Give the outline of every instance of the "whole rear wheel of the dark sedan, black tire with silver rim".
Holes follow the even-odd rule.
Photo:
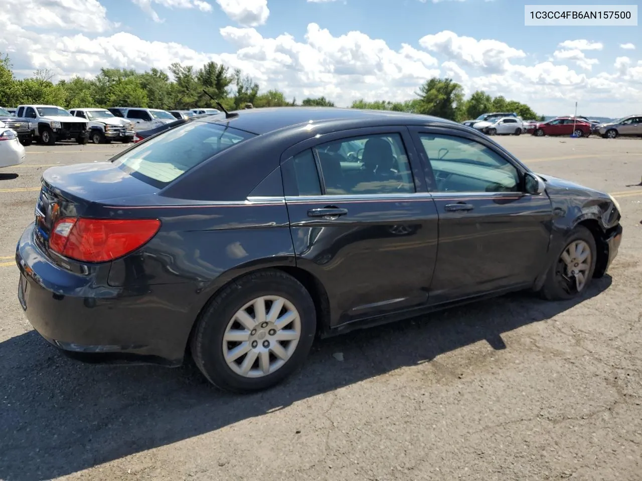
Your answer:
[[[273,300],[264,301],[265,298]],[[294,319],[287,325],[267,322],[269,309],[273,302],[279,300],[284,302],[280,311],[284,314],[279,314],[277,320],[290,319],[286,315]],[[262,316],[254,312],[254,305],[263,305],[266,312],[266,321],[256,326],[253,325],[254,318],[260,319]],[[245,319],[245,324],[239,323],[238,319]],[[288,332],[285,333],[284,328],[288,326]],[[212,298],[191,336],[191,354],[198,369],[219,389],[232,392],[261,391],[279,384],[303,364],[316,332],[317,312],[307,289],[292,276],[268,269],[231,282]],[[298,337],[290,341],[278,341],[279,333]],[[224,341],[225,337],[228,341]],[[280,346],[278,351],[277,344]],[[243,353],[234,360],[230,358],[228,362],[225,359],[226,352],[232,356],[235,348]],[[250,371],[243,375],[243,367],[250,361],[251,365],[247,366]],[[252,369],[254,366],[256,368]],[[265,366],[268,366],[266,374]],[[274,370],[270,373],[273,366]]]

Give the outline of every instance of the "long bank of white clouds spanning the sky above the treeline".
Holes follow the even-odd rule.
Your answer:
[[[40,5],[62,4],[62,0],[48,2],[41,0]],[[191,3],[193,8],[205,8]],[[173,1],[175,8],[180,4]],[[235,15],[240,15],[237,19],[248,22],[247,12],[260,10],[249,5],[244,14],[239,13],[242,8],[234,10]],[[59,18],[64,15],[59,9],[53,12]],[[38,22],[24,24],[15,8],[0,9],[0,51],[10,54],[19,76],[48,68],[58,78],[93,76],[101,67],[144,71],[151,67],[167,69],[172,62],[200,68],[214,61],[241,69],[259,82],[262,90],[279,89],[286,97],[297,97],[299,101],[307,96],[325,96],[339,106],[349,106],[361,97],[412,99],[419,86],[433,76],[453,78],[467,94],[482,89],[492,96],[525,102],[546,115],[568,114],[578,101],[585,106],[586,115],[615,117],[624,115],[629,105],[642,103],[642,63],[622,56],[592,72],[599,64],[584,56],[590,42],[562,42],[557,55],[551,56],[554,62],[534,63],[532,56],[504,42],[460,37],[452,31],[426,35],[419,42],[417,38],[406,38],[406,43],[393,49],[385,40],[359,31],[340,35],[310,23],[305,35],[296,38],[286,33],[264,37],[255,28],[226,26],[220,34],[229,42],[229,48],[213,52],[205,44],[197,50],[178,42],[150,42],[123,31],[102,33],[100,28],[109,28],[109,24],[105,23],[104,12],[97,12],[92,12],[92,28],[96,32],[76,33],[61,30],[56,21],[44,27],[55,31],[35,29],[32,27]],[[73,24],[73,18],[65,18],[69,21],[65,28],[80,28],[81,24]],[[104,19],[103,24],[97,22],[100,19]],[[254,21],[257,19],[261,15],[255,15]],[[84,26],[89,24],[83,21]],[[575,66],[581,67],[582,63],[582,70]]]

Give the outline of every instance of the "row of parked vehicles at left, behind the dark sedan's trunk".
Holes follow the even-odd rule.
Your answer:
[[[23,146],[33,141],[53,145],[60,140],[76,140],[86,144],[103,144],[117,140],[132,142],[136,131],[146,131],[169,124],[177,119],[197,115],[213,115],[216,108],[191,110],[160,110],[158,108],[110,107],[73,108],[65,110],[57,105],[19,105],[0,107],[0,121],[5,128],[15,131]]]

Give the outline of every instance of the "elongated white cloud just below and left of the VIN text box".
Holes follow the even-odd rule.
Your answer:
[[[498,40],[476,40],[460,37],[453,31],[444,30],[435,35],[426,35],[419,44],[433,52],[446,56],[468,67],[476,67],[489,74],[505,72],[512,58],[524,58],[526,54]]]

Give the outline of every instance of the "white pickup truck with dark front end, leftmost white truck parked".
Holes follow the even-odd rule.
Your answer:
[[[19,105],[16,117],[27,119],[33,139],[49,146],[66,139],[87,144],[89,139],[87,121],[57,105]]]

